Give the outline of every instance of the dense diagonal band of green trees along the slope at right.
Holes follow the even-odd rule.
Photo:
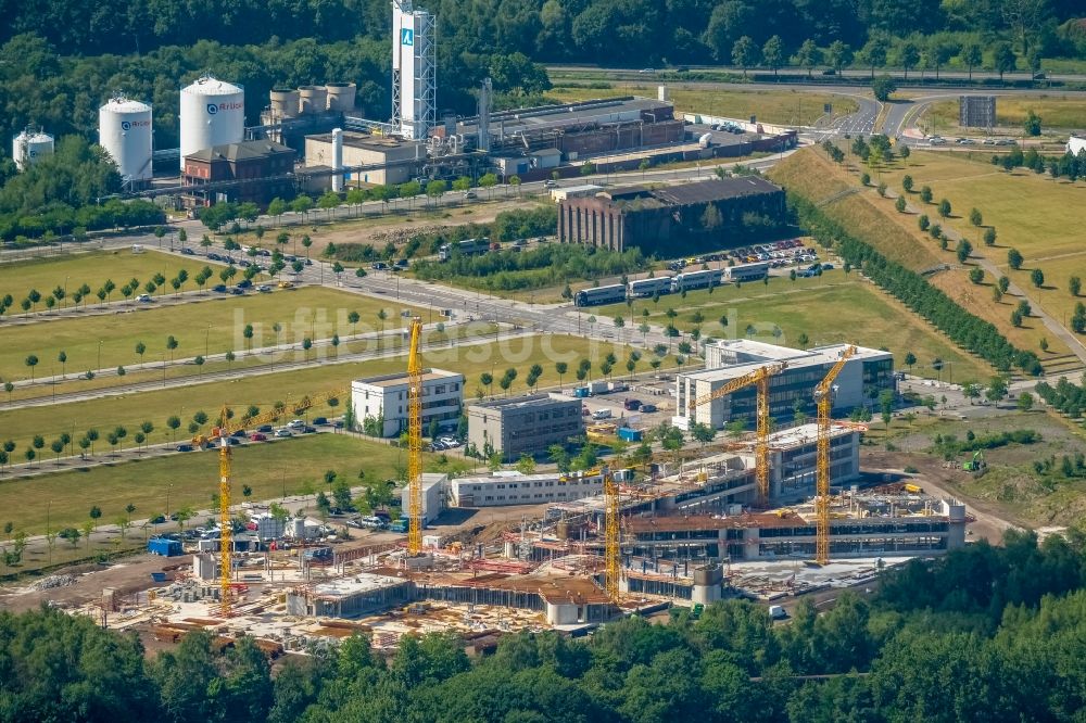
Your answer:
[[[1000,371],[1018,367],[1030,375],[1040,373],[1037,355],[1015,348],[990,321],[967,312],[920,274],[889,261],[854,237],[807,199],[791,194],[788,202],[800,225],[820,244],[833,248],[854,268],[862,269],[868,278],[926,319],[958,346],[976,354]]]

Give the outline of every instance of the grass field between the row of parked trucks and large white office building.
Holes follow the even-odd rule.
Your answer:
[[[956,379],[987,379],[992,369],[983,362],[963,354],[942,334],[908,312],[901,304],[877,288],[862,281],[856,274],[828,271],[820,278],[770,279],[768,286],[747,283],[740,289],[727,286],[715,290],[695,291],[686,299],[662,296],[659,304],[652,300],[634,302],[633,333],[648,309],[653,324],[666,325],[667,312],[673,308],[674,325],[689,332],[700,326],[703,337],[745,338],[786,346],[799,346],[799,334],[807,334],[809,345],[854,342],[880,348],[886,346],[895,355],[898,368],[905,367],[905,355],[915,354],[913,372],[935,377],[929,365],[935,357],[949,362]],[[695,321],[695,314],[703,321]],[[598,316],[622,314],[627,330],[631,329],[631,309],[624,304],[601,307]],[[720,318],[728,317],[728,326]],[[778,332],[779,330],[779,332]],[[960,376],[959,376],[960,375]]]

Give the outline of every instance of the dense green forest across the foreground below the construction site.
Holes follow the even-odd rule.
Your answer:
[[[506,636],[470,659],[450,636],[364,637],[286,662],[190,633],[146,660],[137,638],[42,609],[0,614],[0,721],[662,723],[1081,721],[1086,536],[1008,533],[884,573],[872,595],[787,624],[730,600],[588,640]],[[811,677],[813,676],[813,677]]]

